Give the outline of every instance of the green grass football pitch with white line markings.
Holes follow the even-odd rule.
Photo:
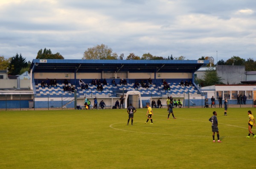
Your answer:
[[[217,111],[222,143],[212,142]],[[246,138],[253,108],[125,109],[0,112],[0,169],[255,169],[256,138]],[[130,121],[131,124],[131,121]],[[253,132],[256,133],[256,127]],[[217,140],[217,136],[215,136]]]

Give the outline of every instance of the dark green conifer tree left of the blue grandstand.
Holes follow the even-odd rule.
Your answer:
[[[26,68],[28,63],[26,62],[26,58],[23,58],[22,55],[16,54],[12,57],[11,62],[9,64],[9,74],[10,75],[18,75],[22,68]]]

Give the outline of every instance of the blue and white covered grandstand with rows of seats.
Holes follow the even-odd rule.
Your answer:
[[[34,59],[31,64],[31,89],[35,94],[34,107],[46,107],[49,106],[49,102],[50,107],[82,106],[86,96],[92,102],[95,97],[98,100],[104,100],[108,105],[107,108],[111,108],[116,99],[133,90],[140,92],[143,107],[152,99],[161,99],[164,105],[168,96],[181,99],[184,106],[189,106],[191,103],[199,106],[204,96],[194,80],[194,73],[208,62],[207,60]],[[42,86],[42,81],[46,83],[47,78],[56,79],[56,85]],[[148,83],[149,78],[152,79],[152,84],[143,87],[141,81]],[[79,84],[80,79],[88,85],[86,89]],[[102,90],[97,89],[98,85],[92,83],[94,79],[101,81]],[[103,79],[106,79],[107,84],[102,83]],[[113,79],[116,84],[112,84]],[[120,84],[121,79],[125,79],[126,83]],[[73,85],[75,90],[65,91],[64,80],[67,80],[69,86]],[[168,89],[164,89],[164,80],[168,82]],[[181,80],[191,81],[192,85],[181,86]],[[134,87],[136,82],[139,82],[139,86]],[[193,101],[188,101],[189,96]],[[127,99],[129,104],[135,98],[131,96]],[[141,107],[140,101],[133,104]]]

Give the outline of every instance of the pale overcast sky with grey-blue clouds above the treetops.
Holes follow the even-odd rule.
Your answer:
[[[125,57],[256,60],[256,1],[0,0],[0,56],[81,59],[102,43]]]

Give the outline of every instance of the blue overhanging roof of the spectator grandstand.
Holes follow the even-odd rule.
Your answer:
[[[33,72],[174,72],[194,73],[209,60],[85,60],[85,59],[33,59]]]

